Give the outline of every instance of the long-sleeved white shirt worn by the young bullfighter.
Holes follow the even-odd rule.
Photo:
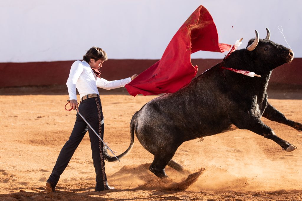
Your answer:
[[[129,82],[131,82],[130,77],[113,81],[96,77],[86,61],[75,61],[71,66],[66,85],[68,88],[69,100],[76,100],[76,88],[79,91],[80,98],[82,98],[91,93],[99,94],[97,87],[110,90],[123,87]]]

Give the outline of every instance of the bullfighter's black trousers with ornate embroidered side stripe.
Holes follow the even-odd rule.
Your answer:
[[[102,112],[101,100],[99,98],[89,98],[83,100],[79,105],[79,112],[83,117],[88,121],[92,128],[101,136],[104,137],[104,118]],[[92,149],[92,160],[95,167],[96,173],[96,186],[95,190],[107,190],[107,177],[105,174],[105,164],[104,164],[104,155],[103,155],[103,146],[104,144],[101,140],[95,135],[90,127],[87,126],[82,117],[77,113],[76,122],[73,127],[72,133],[69,137],[69,140],[63,146],[59,157],[56,161],[56,165],[53,168],[52,173],[50,174],[48,182],[51,182],[53,185],[59,181],[60,175],[63,173],[67,167],[73,153],[76,148],[79,146],[82,141],[85,133],[89,133],[90,144]]]

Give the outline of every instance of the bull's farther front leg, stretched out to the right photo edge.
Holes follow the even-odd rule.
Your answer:
[[[287,119],[281,112],[279,112],[276,108],[274,108],[271,104],[267,104],[264,113],[262,117],[265,117],[271,121],[276,121],[281,124],[286,124],[290,127],[293,127],[294,129],[301,132],[302,130],[302,124],[299,122],[291,121]]]

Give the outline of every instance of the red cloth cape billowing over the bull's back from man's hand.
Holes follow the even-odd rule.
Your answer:
[[[198,66],[191,53],[199,50],[224,52],[231,45],[218,43],[218,33],[210,13],[200,5],[173,36],[162,58],[126,84],[132,96],[174,93],[195,77]]]

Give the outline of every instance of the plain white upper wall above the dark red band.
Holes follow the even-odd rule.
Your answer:
[[[214,18],[219,41],[266,36],[302,57],[300,0],[1,0],[0,62],[81,59],[92,46],[114,59],[159,59],[178,28],[199,6]],[[233,26],[233,27],[232,27]],[[197,52],[192,58],[223,58]]]

